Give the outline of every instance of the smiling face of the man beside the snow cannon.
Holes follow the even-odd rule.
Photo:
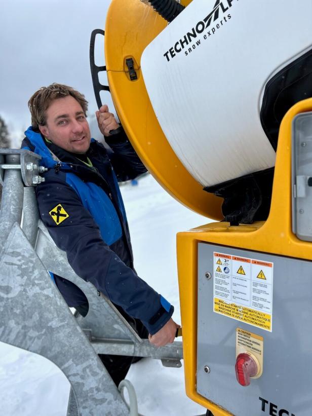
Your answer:
[[[70,95],[52,101],[41,133],[67,152],[83,154],[90,146],[89,124],[82,106]]]

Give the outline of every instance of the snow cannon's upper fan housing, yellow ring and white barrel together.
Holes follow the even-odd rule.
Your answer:
[[[114,104],[141,159],[180,202],[231,223],[265,219],[281,120],[311,95],[310,1],[188,3],[168,25],[139,0],[112,2]]]

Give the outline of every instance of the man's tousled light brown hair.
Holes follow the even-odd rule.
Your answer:
[[[38,126],[45,126],[47,124],[46,111],[50,107],[52,101],[68,96],[73,97],[79,102],[85,116],[87,116],[88,101],[83,94],[67,85],[53,83],[48,87],[41,87],[38,89],[28,101],[33,130],[39,131]]]

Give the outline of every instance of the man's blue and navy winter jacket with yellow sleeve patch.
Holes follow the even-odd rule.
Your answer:
[[[170,319],[173,306],[140,279],[133,256],[125,207],[118,181],[146,171],[124,132],[107,138],[111,150],[91,139],[86,156],[92,166],[47,143],[30,127],[22,148],[40,155],[48,168],[36,186],[38,209],[55,244],[66,251],[74,272],[91,282],[128,315],[138,318],[150,334]],[[86,302],[69,281],[54,276],[69,306]]]

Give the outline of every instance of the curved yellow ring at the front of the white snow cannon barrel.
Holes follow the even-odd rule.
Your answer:
[[[166,25],[165,19],[140,0],[112,0],[105,24],[105,61],[112,99],[129,139],[154,178],[183,205],[209,218],[222,219],[222,199],[203,191],[177,158],[146,92],[141,55]],[[130,81],[127,58],[134,61],[135,81]]]

